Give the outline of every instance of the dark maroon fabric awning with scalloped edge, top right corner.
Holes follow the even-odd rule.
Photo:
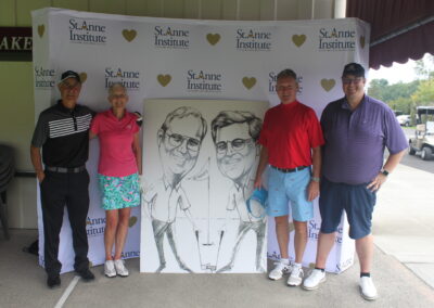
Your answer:
[[[346,16],[371,24],[372,68],[434,53],[433,0],[347,0]]]

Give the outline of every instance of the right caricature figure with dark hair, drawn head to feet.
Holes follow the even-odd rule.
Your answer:
[[[212,138],[215,144],[217,166],[221,175],[232,181],[228,192],[227,222],[232,213],[238,214],[239,227],[230,260],[217,272],[231,271],[240,244],[250,230],[256,233],[256,270],[264,272],[261,251],[266,234],[264,217],[248,213],[246,200],[253,191],[257,167],[261,120],[251,112],[222,111],[212,121]],[[220,243],[225,231],[220,231]],[[218,262],[218,255],[217,255]],[[217,265],[218,266],[218,265]]]

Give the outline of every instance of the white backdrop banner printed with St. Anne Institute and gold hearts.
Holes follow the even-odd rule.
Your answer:
[[[286,67],[297,73],[298,100],[320,116],[328,102],[342,97],[340,77],[344,65],[354,61],[368,68],[369,60],[370,28],[356,18],[193,21],[42,9],[33,12],[33,29],[36,117],[59,99],[55,84],[66,69],[81,75],[82,104],[97,112],[108,108],[107,87],[119,81],[129,92],[128,110],[141,112],[148,99],[206,99],[216,100],[215,104],[219,100],[268,101],[276,105],[279,103],[276,76]],[[105,216],[100,208],[95,178],[98,151],[98,141],[91,141],[87,230],[89,259],[93,265],[104,261]],[[40,214],[40,204],[38,207]],[[38,217],[40,247],[43,247],[41,215]],[[136,208],[130,219],[126,258],[140,256],[140,208]],[[279,257],[270,222],[268,255]],[[315,260],[319,226],[317,213],[309,221],[305,266]],[[344,220],[341,228],[327,268],[333,272],[353,264],[354,245]],[[67,219],[61,233],[60,260],[62,272],[73,270]],[[43,265],[43,249],[40,262]]]

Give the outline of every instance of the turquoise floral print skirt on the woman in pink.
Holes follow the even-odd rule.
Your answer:
[[[105,210],[140,205],[139,175],[107,177],[98,174],[101,192],[101,207]]]

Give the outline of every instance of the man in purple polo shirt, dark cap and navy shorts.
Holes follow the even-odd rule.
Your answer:
[[[361,296],[373,300],[378,297],[370,277],[375,193],[403,158],[408,143],[392,110],[366,95],[365,84],[365,68],[347,64],[342,75],[345,97],[330,103],[321,116],[326,139],[319,200],[322,222],[316,267],[303,287],[316,290],[326,281],[326,261],[345,209],[360,262]],[[390,156],[383,166],[385,147]]]

